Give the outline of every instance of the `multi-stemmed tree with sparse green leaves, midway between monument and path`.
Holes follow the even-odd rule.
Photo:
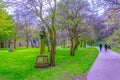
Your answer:
[[[85,43],[94,35],[94,29],[87,24],[87,16],[90,14],[89,3],[85,0],[61,0],[58,4],[58,22],[64,30],[69,33],[68,38],[71,41],[71,56],[75,55],[81,40]],[[91,35],[90,35],[91,34]]]

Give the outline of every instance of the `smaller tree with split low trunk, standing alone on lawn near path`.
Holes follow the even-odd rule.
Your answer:
[[[75,51],[80,43],[80,29],[84,24],[85,10],[89,9],[88,5],[86,1],[82,0],[61,0],[59,3],[59,19],[64,24],[64,28],[69,32],[71,56],[75,55]]]

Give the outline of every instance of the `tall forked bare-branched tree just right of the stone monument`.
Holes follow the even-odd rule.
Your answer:
[[[55,53],[56,53],[56,27],[55,27],[55,19],[56,19],[56,0],[31,0],[28,1],[30,4],[30,9],[36,14],[37,17],[44,23],[45,27],[48,30],[50,41],[51,41],[51,51],[50,51],[50,65],[55,66]],[[37,5],[36,5],[37,4]],[[53,4],[53,6],[52,6]],[[44,7],[49,6],[47,10]],[[48,22],[45,18],[46,15],[49,15],[49,19],[51,23]]]

